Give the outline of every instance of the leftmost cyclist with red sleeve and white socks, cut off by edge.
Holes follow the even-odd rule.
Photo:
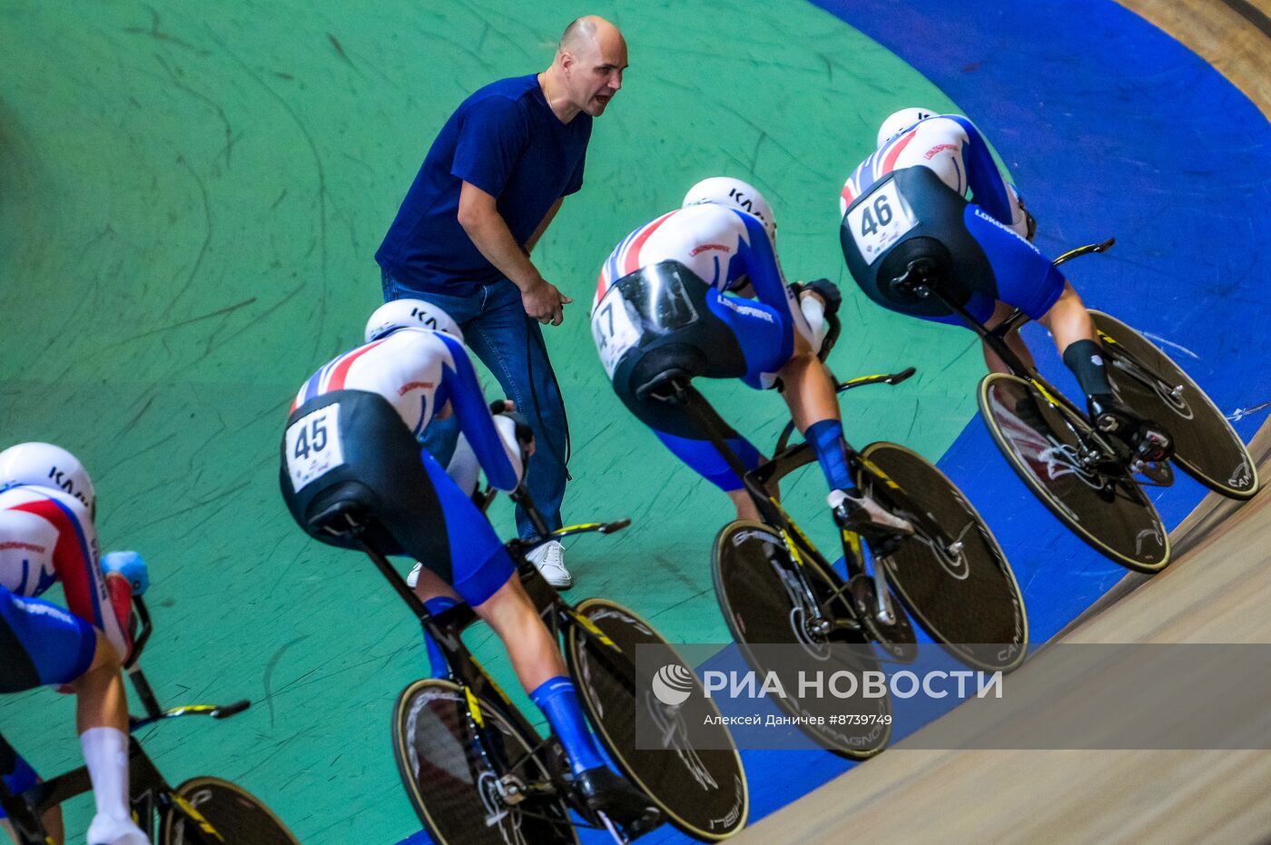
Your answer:
[[[132,582],[142,591],[147,576],[135,553],[98,560],[95,507],[93,482],[66,450],[31,442],[0,452],[0,693],[44,685],[75,693],[76,729],[97,804],[88,842],[144,845],[150,840],[128,809],[128,703],[121,666],[132,648]],[[38,598],[57,581],[70,612]],[[0,748],[0,775],[11,793],[38,783],[9,748]],[[43,821],[64,841],[58,808]]]

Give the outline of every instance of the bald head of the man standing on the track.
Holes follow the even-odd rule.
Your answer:
[[[547,75],[563,83],[568,102],[564,111],[571,118],[577,112],[597,117],[622,88],[624,70],[627,39],[623,33],[604,18],[583,15],[561,33],[555,61]]]

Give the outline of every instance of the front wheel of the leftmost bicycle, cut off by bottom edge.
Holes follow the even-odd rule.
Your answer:
[[[163,818],[163,845],[299,845],[259,798],[220,778],[191,778],[177,787]]]

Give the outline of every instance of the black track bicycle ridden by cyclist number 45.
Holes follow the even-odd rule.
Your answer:
[[[492,496],[489,490],[478,493],[478,506],[488,504]],[[749,815],[745,773],[728,728],[719,723],[719,712],[697,677],[688,672],[697,694],[680,706],[662,704],[647,686],[638,689],[637,647],[655,646],[674,654],[666,640],[615,602],[566,602],[525,558],[540,543],[574,534],[611,534],[627,527],[629,520],[548,531],[524,489],[513,499],[534,520],[540,540],[511,540],[506,546],[548,629],[563,639],[566,666],[580,701],[610,759],[665,821],[689,836],[717,841],[736,834]],[[475,612],[460,604],[430,614],[369,541],[372,518],[358,504],[342,499],[316,513],[311,524],[337,536],[356,537],[445,654],[447,676],[409,684],[393,710],[398,770],[430,836],[441,845],[539,845],[577,842],[580,827],[595,827],[608,830],[614,841],[630,841],[628,831],[588,809],[573,787],[559,740],[540,737],[469,653],[460,634],[477,619]],[[641,715],[658,727],[661,747],[638,747]],[[708,717],[716,722],[703,728]],[[697,750],[688,741],[688,724],[694,724],[695,737],[702,737],[702,731],[719,733]]]

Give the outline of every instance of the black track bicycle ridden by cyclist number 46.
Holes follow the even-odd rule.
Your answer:
[[[1115,243],[1110,238],[1080,247],[1054,264],[1106,252]],[[998,449],[1037,498],[1111,560],[1138,572],[1163,569],[1171,560],[1169,534],[1143,488],[1172,484],[1169,461],[1144,460],[1120,438],[1098,431],[1084,408],[1010,349],[1007,337],[1028,321],[1022,311],[986,328],[942,290],[934,264],[923,258],[891,283],[901,292],[941,300],[1005,362],[1009,372],[980,381],[980,413]],[[1257,469],[1205,391],[1132,328],[1103,311],[1089,314],[1116,393],[1136,414],[1169,432],[1169,460],[1211,490],[1251,498],[1258,489]]]

